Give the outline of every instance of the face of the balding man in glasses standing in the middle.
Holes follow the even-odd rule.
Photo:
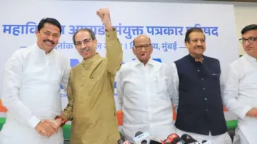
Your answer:
[[[151,46],[150,38],[141,35],[134,39],[133,53],[141,63],[146,64],[151,58],[153,47]]]

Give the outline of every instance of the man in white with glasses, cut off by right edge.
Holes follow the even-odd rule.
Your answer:
[[[223,103],[238,116],[234,144],[257,143],[257,25],[242,31],[246,54],[231,63],[223,89]]]

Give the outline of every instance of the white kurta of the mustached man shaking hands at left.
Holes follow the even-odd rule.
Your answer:
[[[61,144],[62,129],[50,138],[34,129],[40,120],[61,114],[60,85],[66,90],[69,60],[36,44],[16,51],[4,67],[2,102],[8,109],[0,144]]]

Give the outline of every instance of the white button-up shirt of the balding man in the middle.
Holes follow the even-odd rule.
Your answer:
[[[117,75],[117,93],[124,113],[122,130],[130,138],[138,131],[164,140],[175,133],[171,101],[175,107],[173,78],[165,63],[149,60],[146,66],[138,59],[121,66]]]

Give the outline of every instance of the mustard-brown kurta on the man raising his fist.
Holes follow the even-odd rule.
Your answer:
[[[63,117],[72,120],[71,144],[111,144],[119,140],[114,78],[122,63],[116,31],[106,32],[106,57],[99,53],[72,68],[69,103]]]

